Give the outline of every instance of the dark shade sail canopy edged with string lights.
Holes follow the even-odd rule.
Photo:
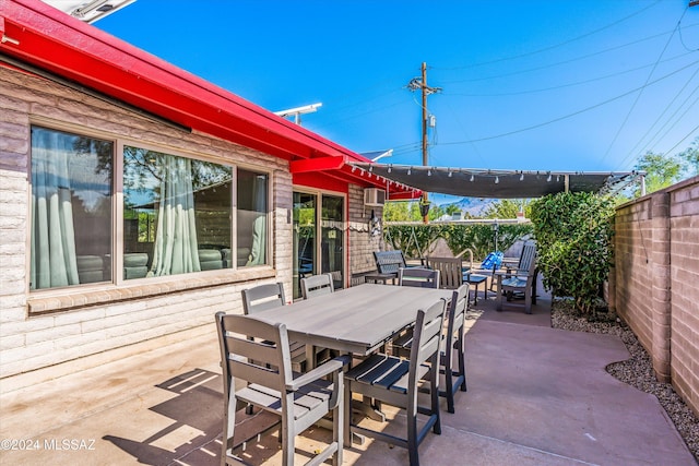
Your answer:
[[[641,171],[528,171],[367,163],[352,165],[425,192],[491,199],[531,199],[565,191],[616,192],[645,175]]]

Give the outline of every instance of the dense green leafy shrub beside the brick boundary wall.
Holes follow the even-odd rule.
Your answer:
[[[577,192],[532,202],[537,265],[556,296],[571,296],[594,316],[600,287],[612,266],[614,200]]]

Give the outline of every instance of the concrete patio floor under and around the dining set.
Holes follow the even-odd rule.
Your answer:
[[[422,464],[697,464],[656,398],[605,371],[629,356],[618,337],[550,328],[547,297],[530,315],[495,311],[489,295],[470,314],[469,391],[457,394],[455,414],[442,411],[441,435],[420,445]],[[212,316],[209,335],[7,393],[0,439],[33,450],[3,449],[0,464],[217,465],[218,357]],[[387,407],[387,416],[380,427],[401,431],[402,415]],[[241,454],[280,464],[275,435]],[[304,432],[297,464],[328,439],[321,428]],[[344,464],[406,465],[407,452],[369,440],[345,445]]]

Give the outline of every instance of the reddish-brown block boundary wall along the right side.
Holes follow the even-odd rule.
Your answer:
[[[611,304],[699,414],[699,177],[617,208]]]

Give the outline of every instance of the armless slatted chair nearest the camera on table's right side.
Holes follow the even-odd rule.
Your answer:
[[[375,354],[345,374],[345,439],[362,433],[392,445],[407,449],[411,466],[419,465],[418,446],[431,429],[441,433],[439,418],[439,371],[430,370],[439,363],[439,348],[445,316],[445,300],[427,310],[419,310],[415,322],[415,337],[410,359]],[[429,387],[429,406],[418,406],[422,385]],[[406,437],[371,430],[352,422],[352,394],[357,393],[383,404],[405,409]],[[426,416],[418,429],[417,418]]]

